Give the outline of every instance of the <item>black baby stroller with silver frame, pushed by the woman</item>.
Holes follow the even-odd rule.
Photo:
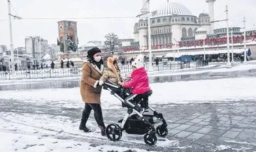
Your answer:
[[[128,134],[144,135],[144,142],[148,145],[154,145],[157,143],[157,135],[159,137],[165,137],[168,134],[167,123],[161,113],[157,113],[155,109],[149,106],[149,109],[153,114],[141,114],[141,102],[148,99],[148,96],[152,94],[152,91],[148,91],[143,95],[125,102],[125,98],[130,95],[129,91],[105,82],[104,89],[111,91],[111,94],[122,101],[122,107],[127,107],[127,114],[124,119],[118,121],[120,126],[116,123],[111,123],[106,127],[106,136],[111,141],[118,141],[122,137],[122,131],[125,130]],[[162,124],[154,127],[156,123]]]

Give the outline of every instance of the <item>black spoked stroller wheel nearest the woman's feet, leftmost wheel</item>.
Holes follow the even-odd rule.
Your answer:
[[[111,123],[106,127],[106,136],[111,141],[118,141],[122,137],[122,129],[118,124]]]

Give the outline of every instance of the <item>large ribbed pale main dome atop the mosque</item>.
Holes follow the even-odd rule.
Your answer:
[[[153,17],[169,16],[169,15],[192,15],[190,10],[181,3],[166,1],[159,7],[157,13]]]

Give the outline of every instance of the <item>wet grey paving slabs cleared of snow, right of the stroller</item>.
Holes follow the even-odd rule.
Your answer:
[[[256,151],[255,101],[161,105],[159,109],[169,123],[167,138],[189,145],[189,151]]]

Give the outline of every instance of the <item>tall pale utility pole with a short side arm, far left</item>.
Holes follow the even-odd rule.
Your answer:
[[[12,75],[15,73],[15,68],[14,68],[14,52],[13,52],[13,28],[12,28],[12,20],[11,17],[17,18],[18,20],[21,20],[22,17],[12,15],[10,12],[10,0],[8,2],[8,16],[9,16],[9,29],[10,29],[10,65],[11,70],[12,70]],[[18,57],[18,56],[17,56]]]

